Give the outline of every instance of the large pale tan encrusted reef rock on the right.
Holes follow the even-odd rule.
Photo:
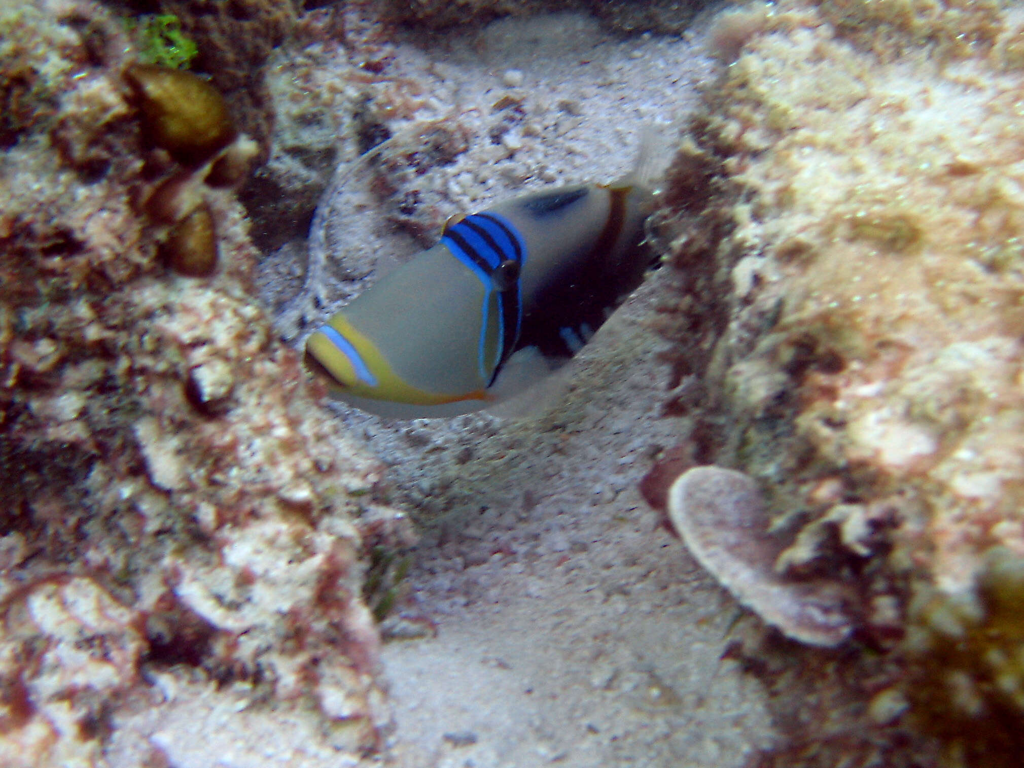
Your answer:
[[[711,39],[734,60],[670,173],[659,321],[706,394],[672,408],[769,495],[776,568],[860,593],[860,652],[829,665],[864,705],[776,764],[1018,765],[1024,13],[758,4]]]

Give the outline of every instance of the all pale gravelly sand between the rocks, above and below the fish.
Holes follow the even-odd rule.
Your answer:
[[[668,162],[715,67],[699,31],[615,38],[561,15],[410,36],[391,71],[428,84],[423,125],[458,115],[469,132],[454,165],[415,179],[447,215],[524,188],[620,177],[645,126]],[[509,94],[523,99],[511,129],[492,109]],[[313,222],[319,317],[365,274],[418,249],[387,224],[368,179],[355,168]],[[293,244],[262,269],[286,333],[308,305],[308,292],[288,301],[303,261]],[[390,501],[422,534],[399,613],[428,617],[437,634],[383,653],[400,765],[724,768],[772,742],[762,688],[719,660],[735,603],[637,490],[679,430],[658,416],[668,374],[648,324],[667,283],[655,273],[641,287],[524,417],[399,422],[337,407],[390,465]]]

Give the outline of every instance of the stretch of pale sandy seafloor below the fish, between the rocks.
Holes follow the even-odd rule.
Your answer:
[[[420,468],[399,436],[375,434],[386,456],[401,450],[399,482],[461,484],[444,544],[428,538],[413,577],[437,637],[384,650],[403,764],[738,766],[769,741],[760,685],[718,660],[734,603],[636,489],[649,452],[671,443],[639,322],[657,288],[588,350],[554,409],[568,429],[459,436],[479,445],[464,483],[443,453]]]

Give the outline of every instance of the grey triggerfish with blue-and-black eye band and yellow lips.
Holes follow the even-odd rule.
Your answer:
[[[513,198],[364,291],[306,342],[332,394],[382,416],[456,416],[571,357],[643,279],[651,189],[620,182]]]

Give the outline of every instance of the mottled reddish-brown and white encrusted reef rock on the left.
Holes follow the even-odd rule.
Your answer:
[[[230,190],[202,193],[212,276],[159,258],[173,169],[117,20],[40,0],[0,28],[0,763],[185,764],[215,711],[224,738],[308,733],[283,761],[355,764],[388,720],[361,529],[404,536],[378,464],[254,300]]]

